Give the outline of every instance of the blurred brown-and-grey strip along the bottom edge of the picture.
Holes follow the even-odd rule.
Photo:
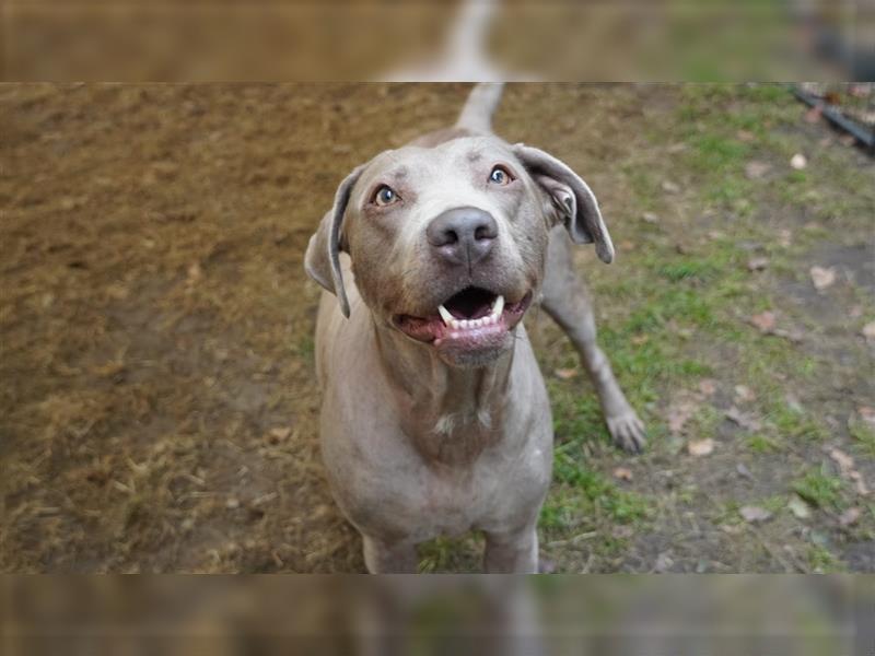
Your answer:
[[[874,637],[871,578],[842,575],[52,578],[2,581],[4,654],[866,656]]]

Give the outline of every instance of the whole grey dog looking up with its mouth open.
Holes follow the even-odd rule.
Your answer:
[[[521,323],[533,301],[580,352],[617,444],[644,443],[572,267],[571,242],[614,258],[598,203],[564,163],[491,133],[500,97],[478,85],[453,128],[358,166],[307,247],[330,292],[323,458],[374,573],[415,572],[419,542],[471,529],[487,572],[537,571],[553,436]]]

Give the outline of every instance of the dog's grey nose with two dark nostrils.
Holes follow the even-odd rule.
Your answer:
[[[432,248],[453,265],[471,267],[483,259],[499,236],[492,214],[477,208],[454,208],[432,219],[425,235]]]

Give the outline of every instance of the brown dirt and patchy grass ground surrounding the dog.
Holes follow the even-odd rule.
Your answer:
[[[302,257],[338,181],[467,89],[0,87],[1,571],[363,570],[318,457]],[[605,209],[618,259],[579,266],[651,434],[614,449],[526,319],[557,571],[875,571],[875,165],[804,116],[770,86],[509,87],[498,131]]]

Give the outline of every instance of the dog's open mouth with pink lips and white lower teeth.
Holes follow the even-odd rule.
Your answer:
[[[444,301],[432,316],[398,315],[395,323],[406,335],[435,347],[453,343],[463,349],[488,348],[504,339],[530,303],[532,292],[509,303],[500,294],[469,286]]]

